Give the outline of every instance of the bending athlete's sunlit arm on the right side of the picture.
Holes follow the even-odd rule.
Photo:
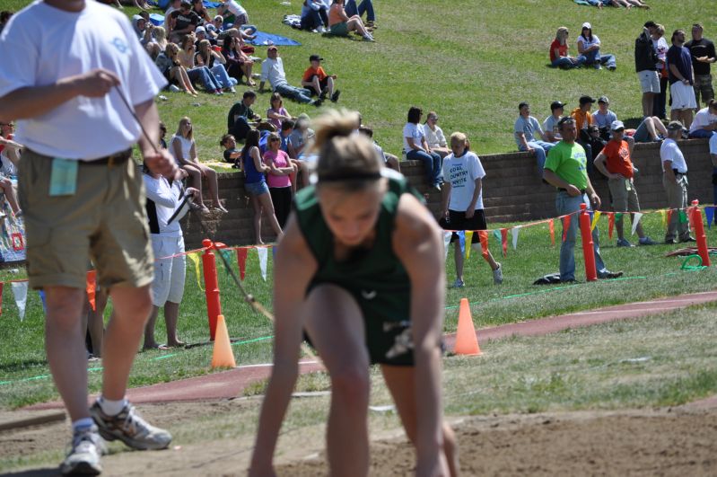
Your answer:
[[[393,250],[411,280],[416,475],[447,475],[442,453],[441,337],[446,284],[442,232],[428,210],[408,194],[398,205]]]

